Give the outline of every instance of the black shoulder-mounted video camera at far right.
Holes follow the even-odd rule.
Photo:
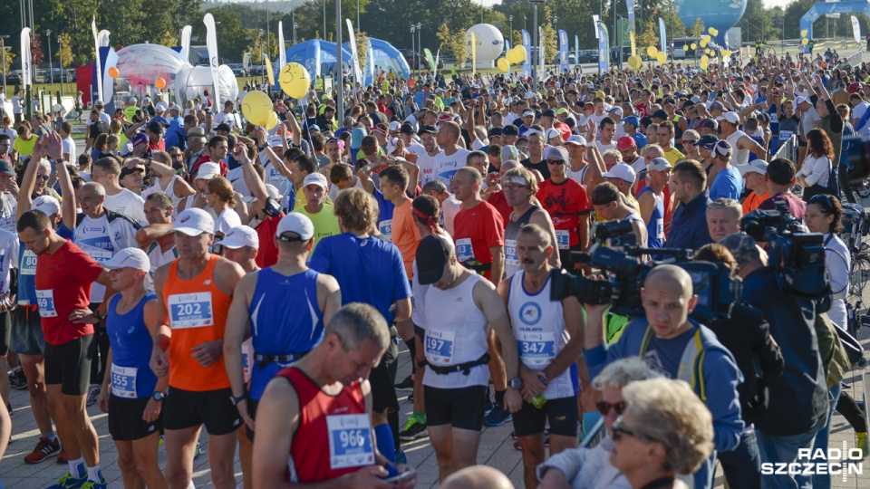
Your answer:
[[[756,241],[768,244],[768,262],[778,270],[780,290],[818,302],[825,312],[831,302],[831,281],[825,264],[823,235],[810,233],[791,216],[784,202],[777,210],[754,210],[740,219],[740,227]]]

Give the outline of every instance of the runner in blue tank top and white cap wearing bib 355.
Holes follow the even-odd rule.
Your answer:
[[[111,297],[106,311],[109,368],[97,402],[102,412],[109,413],[109,433],[118,448],[124,484],[165,487],[157,447],[169,378],[158,379],[148,365],[153,349],[151,330],[158,316],[157,295],[145,289],[151,264],[139,248],[124,248],[103,266],[109,269],[112,288],[120,293]],[[98,319],[82,318],[88,322]]]

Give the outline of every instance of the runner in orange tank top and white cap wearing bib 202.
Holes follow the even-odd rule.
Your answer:
[[[186,209],[172,228],[179,258],[154,273],[158,328],[150,368],[169,376],[163,401],[166,479],[188,487],[199,432],[208,431],[208,465],[218,488],[236,487],[233,459],[241,421],[224,367],[223,342],[233,290],[244,272],[208,253],[215,223],[198,208]]]

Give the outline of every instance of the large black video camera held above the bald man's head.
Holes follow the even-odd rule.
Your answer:
[[[696,321],[730,318],[733,305],[741,292],[740,279],[725,264],[692,261],[691,251],[675,248],[639,248],[633,245],[634,235],[628,221],[612,221],[596,225],[596,241],[585,261],[601,271],[610,273],[613,280],[599,280],[573,275],[562,270],[551,273],[551,301],[575,297],[587,304],[613,304],[613,311],[623,316],[642,316],[641,288],[647,273],[657,264],[675,264],[689,273],[692,291],[698,295],[698,304],[691,313]],[[614,235],[618,233],[619,235]],[[630,237],[629,237],[630,236]],[[623,251],[604,246],[606,240],[614,245],[614,238],[623,244]],[[632,242],[632,245],[624,244]],[[668,258],[653,264],[644,263],[645,254]]]

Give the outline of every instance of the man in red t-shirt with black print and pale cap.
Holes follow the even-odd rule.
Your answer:
[[[541,182],[537,200],[553,219],[562,266],[572,270],[572,251],[589,247],[589,198],[586,189],[565,171],[571,158],[562,146],[551,146],[545,154],[550,177]]]

